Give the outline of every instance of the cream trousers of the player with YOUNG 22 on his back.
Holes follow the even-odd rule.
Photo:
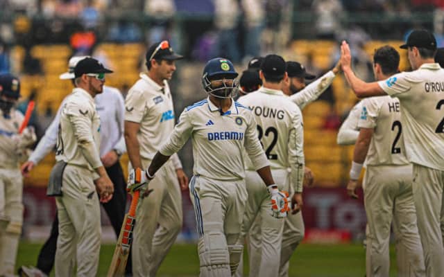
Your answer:
[[[289,186],[287,168],[271,173],[280,190]],[[249,276],[278,276],[284,219],[271,216],[270,196],[257,172],[247,170],[245,181],[248,201],[239,242],[248,234]],[[236,276],[242,276],[243,270],[238,267]]]

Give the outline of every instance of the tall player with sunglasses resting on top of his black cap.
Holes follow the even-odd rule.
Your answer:
[[[125,140],[129,168],[146,168],[175,124],[173,97],[168,80],[176,71],[176,60],[169,42],[153,44],[146,53],[147,73],[126,96]],[[182,228],[182,196],[187,175],[178,155],[173,155],[151,182],[151,197],[141,197],[136,211],[133,249],[134,276],[155,276],[162,260]],[[157,228],[158,226],[158,228]]]

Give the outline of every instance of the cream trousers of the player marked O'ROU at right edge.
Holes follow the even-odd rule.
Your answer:
[[[413,163],[413,200],[428,277],[444,274],[444,171]]]

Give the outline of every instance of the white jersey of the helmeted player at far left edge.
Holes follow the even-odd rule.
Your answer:
[[[0,168],[19,168],[19,157],[15,150],[17,141],[13,139],[19,132],[24,116],[21,111],[12,108],[10,115],[3,115],[0,110]]]

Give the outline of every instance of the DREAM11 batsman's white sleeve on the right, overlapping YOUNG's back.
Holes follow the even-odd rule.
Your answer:
[[[266,154],[262,149],[262,145],[259,142],[259,139],[257,138],[257,123],[255,118],[253,117],[253,114],[250,114],[250,116],[246,117],[246,119],[248,120],[248,123],[245,132],[245,150],[248,154],[248,157],[250,157],[255,170],[259,170],[261,168],[264,168],[265,166],[269,166],[270,163],[268,163],[268,159],[266,159]]]

